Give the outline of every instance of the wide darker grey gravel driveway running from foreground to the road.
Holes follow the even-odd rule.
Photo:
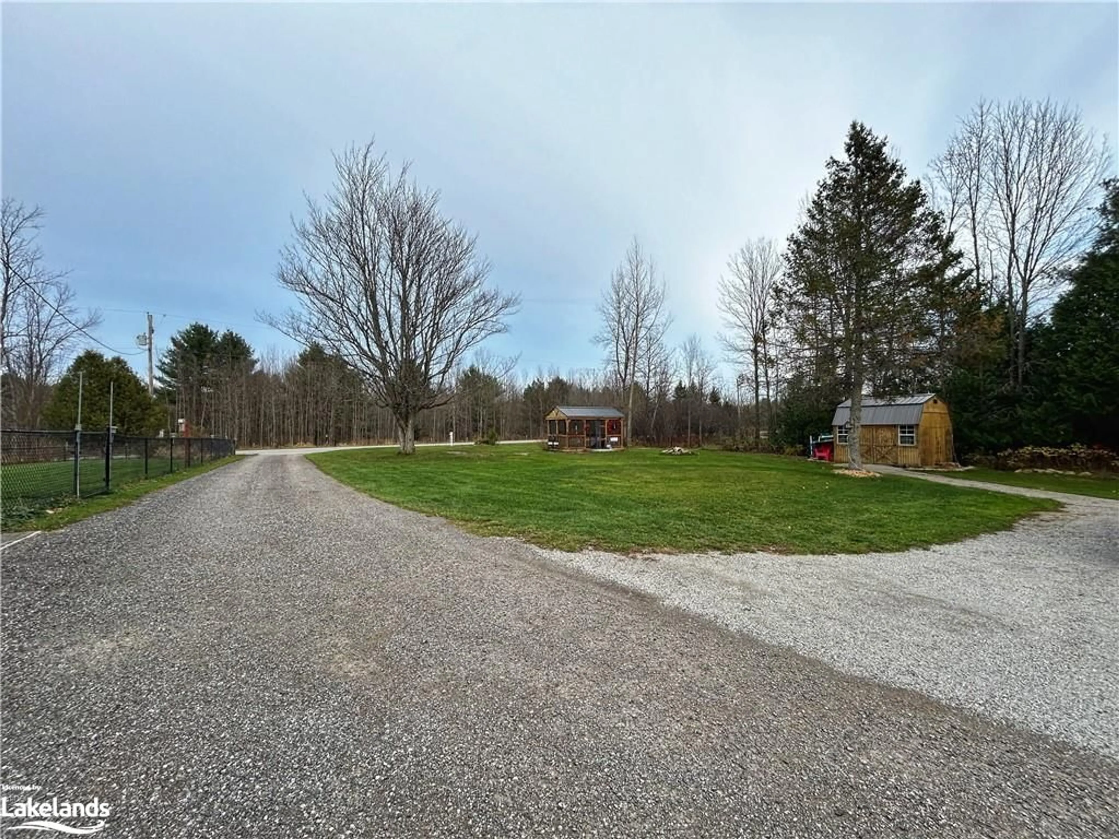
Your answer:
[[[98,796],[106,837],[1119,833],[1110,758],[298,456],[0,557],[3,782]]]

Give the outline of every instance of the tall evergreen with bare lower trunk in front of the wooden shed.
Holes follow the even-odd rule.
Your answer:
[[[803,343],[829,345],[852,409],[850,464],[862,468],[863,390],[904,386],[937,351],[937,314],[962,279],[960,254],[918,181],[861,122],[789,237],[783,311]],[[827,320],[827,323],[821,323]]]

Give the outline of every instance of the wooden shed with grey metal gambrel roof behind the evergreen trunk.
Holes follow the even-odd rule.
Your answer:
[[[845,399],[831,418],[836,463],[848,462],[849,430],[850,399]],[[956,459],[948,405],[935,394],[881,399],[863,397],[858,442],[864,463],[935,466]]]

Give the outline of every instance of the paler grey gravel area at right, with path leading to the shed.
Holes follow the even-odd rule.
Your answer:
[[[733,630],[1119,757],[1119,503],[955,545],[862,556],[542,552]]]

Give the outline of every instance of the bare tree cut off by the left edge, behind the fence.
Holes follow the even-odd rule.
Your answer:
[[[101,322],[82,312],[65,273],[48,268],[37,236],[44,213],[7,197],[0,207],[0,369],[4,421],[38,427],[50,384],[84,334]]]

